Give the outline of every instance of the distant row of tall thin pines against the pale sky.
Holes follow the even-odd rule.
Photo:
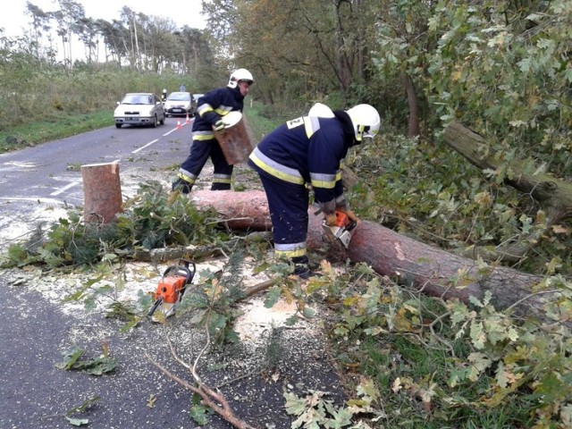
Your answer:
[[[49,62],[115,63],[139,71],[197,74],[214,55],[203,31],[177,28],[168,18],[138,13],[123,6],[117,20],[86,16],[83,4],[57,0],[55,11],[46,12],[28,2],[28,31],[13,40],[13,48]],[[73,52],[78,40],[81,52]]]

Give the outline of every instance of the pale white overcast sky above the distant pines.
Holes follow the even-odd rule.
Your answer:
[[[54,0],[4,0],[0,13],[0,28],[4,28],[7,36],[20,36],[22,28],[28,28],[29,15],[26,14],[26,3],[36,4],[44,12],[59,9]],[[136,13],[171,18],[177,27],[188,25],[191,29],[204,29],[205,18],[201,15],[201,0],[76,0],[83,4],[86,16],[105,21],[119,20],[123,6],[130,7]]]

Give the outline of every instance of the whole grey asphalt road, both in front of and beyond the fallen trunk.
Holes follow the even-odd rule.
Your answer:
[[[119,160],[122,189],[123,179],[125,189],[132,189],[147,177],[163,178],[168,186],[173,173],[161,171],[187,156],[189,129],[177,129],[176,119],[170,118],[157,129],[110,127],[0,156],[0,235],[17,231],[14,226],[20,223],[24,229],[33,228],[41,221],[38,213],[53,218],[54,206],[81,205],[81,175],[68,169],[71,164]],[[5,234],[0,239],[4,250],[9,240]],[[143,269],[139,266],[135,271]],[[178,357],[193,363],[206,340],[191,318],[174,317],[165,325],[144,320],[122,333],[122,323],[105,318],[102,311],[87,312],[82,306],[63,303],[62,298],[78,284],[77,276],[82,275],[78,272],[76,282],[63,273],[39,269],[0,272],[0,338],[4,340],[0,429],[74,427],[66,413],[95,398],[92,406],[73,414],[88,419],[90,428],[230,428],[216,415],[208,416],[206,425],[194,423],[189,416],[191,393],[148,360],[192,382],[189,370],[173,358],[165,340],[168,335]],[[85,273],[79,284],[93,275]],[[147,289],[156,285],[151,280]],[[138,277],[130,278],[125,289],[139,287],[139,282]],[[292,314],[291,308],[266,310],[256,299],[241,306],[240,311],[251,318],[241,322],[242,341],[211,350],[199,366],[203,381],[220,387],[237,416],[259,428],[290,428],[293,419],[284,408],[284,390],[299,396],[326,391],[330,392],[327,399],[341,403],[343,394],[319,333],[319,320],[286,327],[283,322]],[[64,360],[63,351],[73,345],[84,349],[86,358],[95,358],[102,354],[104,342],[117,359],[113,373],[94,376],[56,366]]]

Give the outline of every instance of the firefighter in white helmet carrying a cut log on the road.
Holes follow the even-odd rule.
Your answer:
[[[211,190],[231,189],[233,165],[224,159],[223,149],[214,138],[214,130],[224,132],[224,115],[232,111],[242,112],[244,97],[253,83],[250,71],[238,69],[232,72],[226,87],[213,89],[198,98],[190,154],[181,164],[177,180],[172,182],[172,190],[188,194],[209,157],[214,165]]]

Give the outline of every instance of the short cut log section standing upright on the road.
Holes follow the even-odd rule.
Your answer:
[[[83,215],[87,223],[111,223],[122,212],[122,185],[119,164],[81,165]]]

